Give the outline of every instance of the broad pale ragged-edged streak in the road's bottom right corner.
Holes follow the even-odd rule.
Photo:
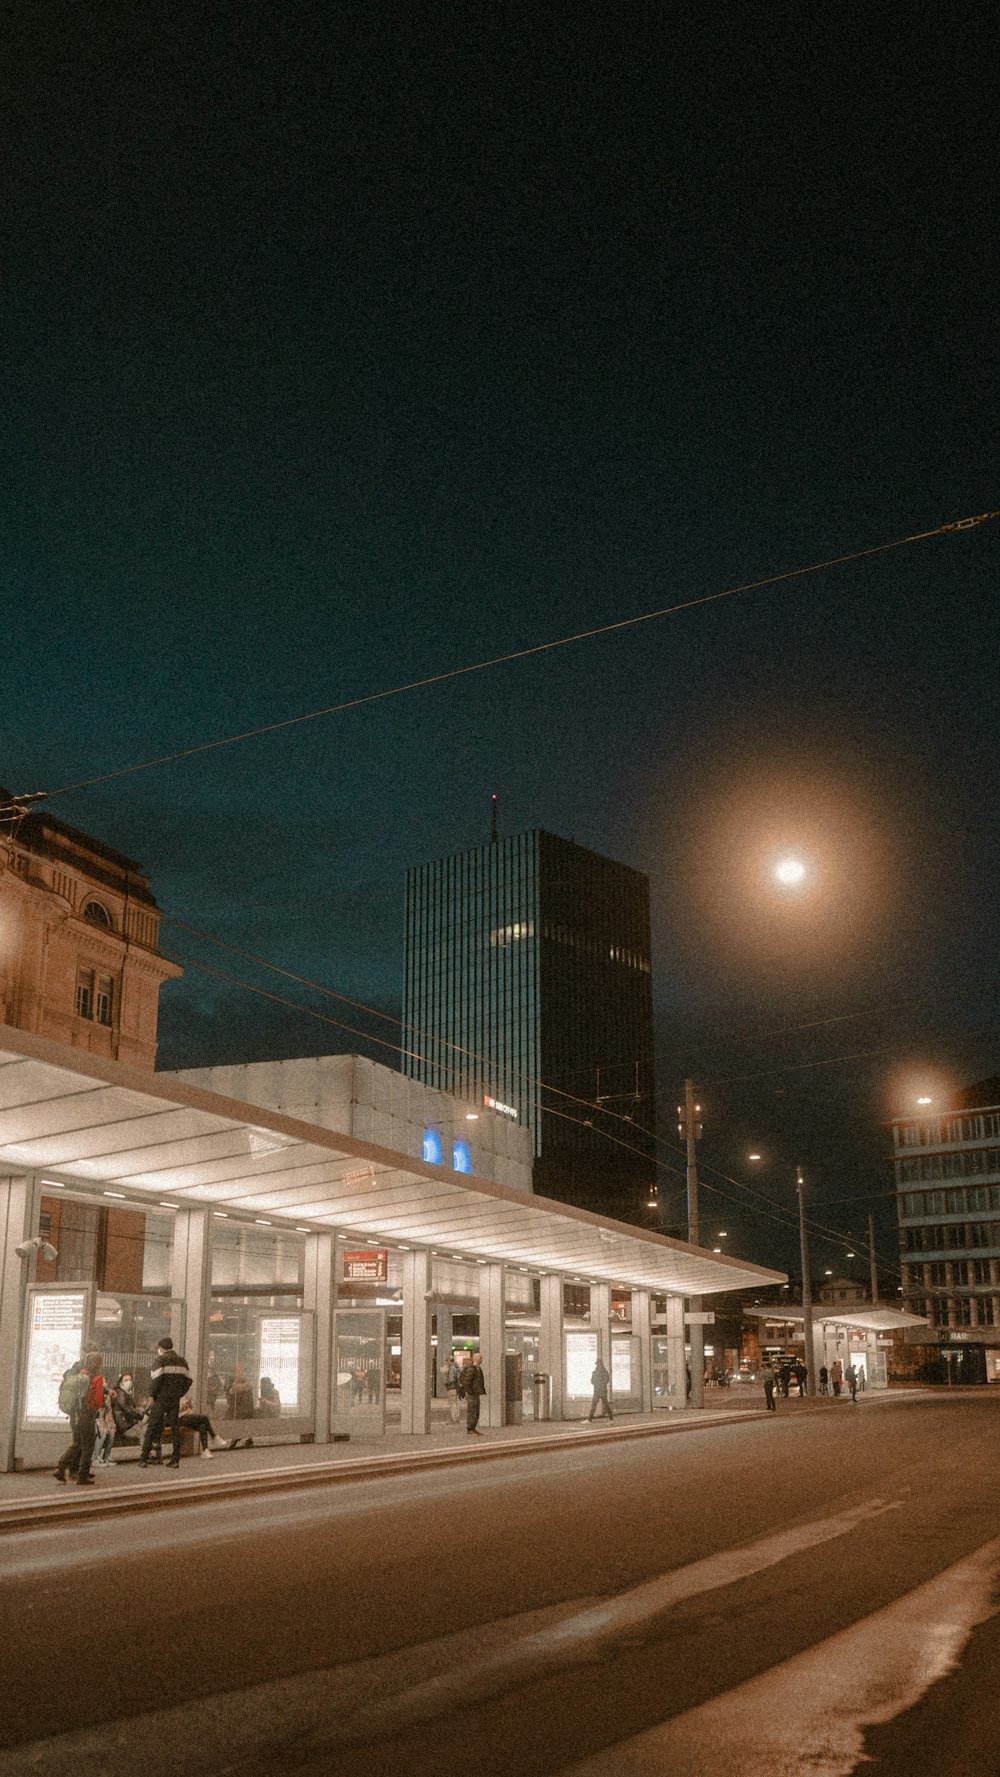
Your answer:
[[[1000,1612],[998,1580],[1000,1537],[808,1653],[560,1777],[851,1777],[865,1727],[911,1709]]]

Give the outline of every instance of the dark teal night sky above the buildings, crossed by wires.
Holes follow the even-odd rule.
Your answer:
[[[989,7],[16,5],[4,36],[14,793],[1000,505]],[[876,1207],[888,1278],[885,1118],[998,1061],[998,562],[995,521],[50,807],[171,917],[389,1015],[405,869],[485,841],[490,793],[647,871],[703,1233],[798,1269],[801,1162],[826,1226]],[[394,1064],[391,1024],[163,944],[163,1066]],[[867,1276],[844,1253],[815,1269]]]

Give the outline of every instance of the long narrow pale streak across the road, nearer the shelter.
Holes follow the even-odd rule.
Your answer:
[[[183,1777],[185,1772],[213,1770],[213,1759],[229,1766],[250,1754],[263,1756],[266,1745],[295,1741],[306,1754],[329,1743],[385,1736],[455,1708],[458,1658],[464,1681],[478,1701],[501,1695],[599,1658],[622,1635],[645,1628],[671,1605],[735,1585],[805,1550],[849,1535],[904,1503],[902,1498],[867,1500],[833,1518],[689,1562],[583,1610],[570,1603],[529,1612],[373,1660],[247,1685],[128,1722],[101,1722],[0,1750],[0,1777],[28,1772],[62,1777],[67,1766],[75,1777],[135,1777],[137,1745],[142,1747],[142,1777]],[[432,1679],[423,1677],[428,1669],[435,1672]]]

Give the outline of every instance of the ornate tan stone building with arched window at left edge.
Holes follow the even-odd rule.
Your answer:
[[[160,988],[181,974],[158,945],[131,858],[50,814],[0,819],[0,1024],[153,1068]]]

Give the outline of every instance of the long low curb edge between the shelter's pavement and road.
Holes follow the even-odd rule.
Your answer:
[[[73,1493],[44,1494],[37,1502],[20,1500],[14,1505],[0,1505],[0,1535],[18,1530],[39,1530],[59,1525],[94,1523],[101,1518],[121,1518],[139,1512],[176,1510],[185,1505],[206,1505],[217,1500],[233,1500],[268,1493],[291,1493],[300,1487],[336,1486],[357,1480],[384,1480],[396,1475],[419,1475],[439,1468],[460,1468],[471,1462],[490,1462],[529,1455],[533,1450],[558,1452],[591,1448],[600,1443],[629,1443],[643,1438],[663,1438],[677,1432],[709,1430],[718,1425],[742,1423],[764,1418],[764,1409],[726,1409],[702,1416],[694,1413],[664,1414],[666,1423],[609,1425],[604,1430],[574,1423],[549,1434],[520,1438],[504,1443],[481,1443],[472,1450],[464,1446],[446,1446],[442,1450],[414,1450],[393,1455],[375,1454],[346,1457],[336,1462],[311,1462],[307,1468],[266,1468],[243,1475],[199,1475],[197,1480],[176,1480],[165,1475],[149,1477],[142,1482],[128,1482],[114,1493],[85,1489],[83,1498]],[[583,1436],[581,1436],[583,1434]]]

